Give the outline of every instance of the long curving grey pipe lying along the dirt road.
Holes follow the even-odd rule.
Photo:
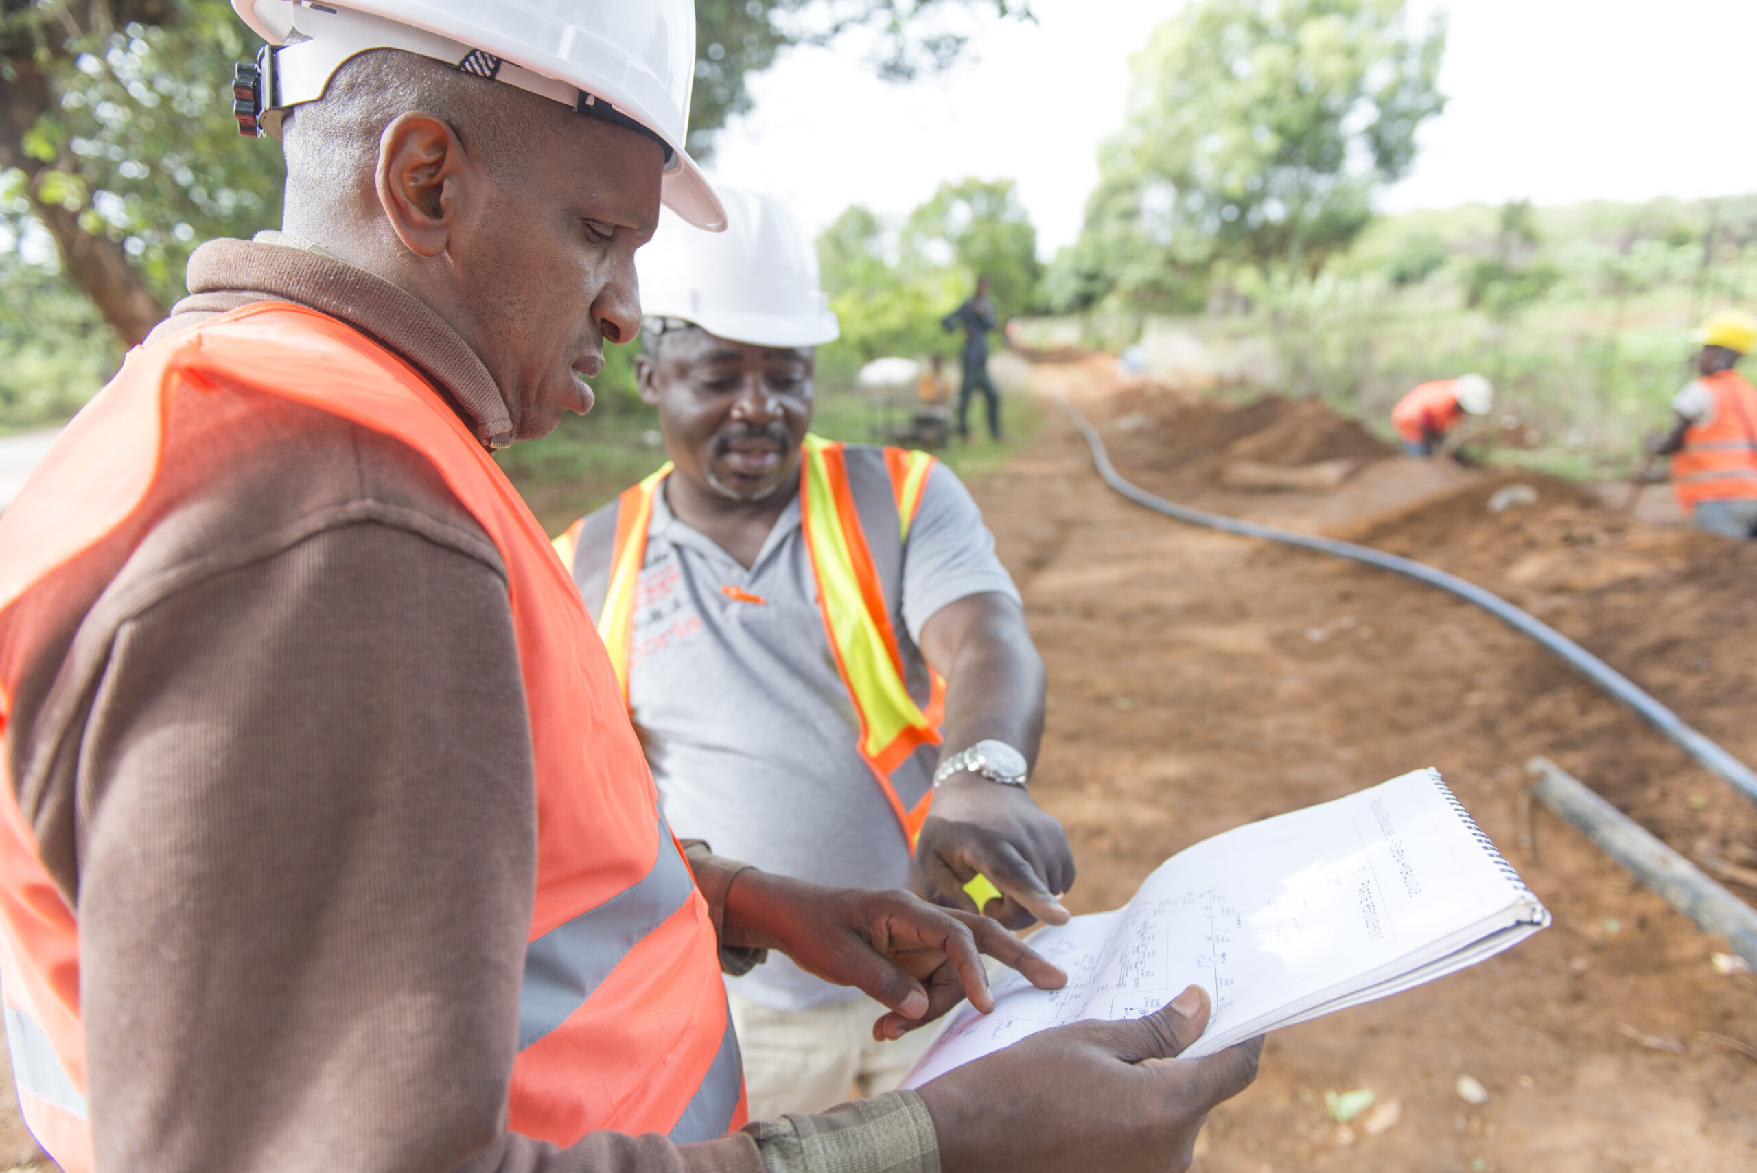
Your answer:
[[[1701,762],[1706,769],[1718,774],[1734,790],[1743,794],[1752,802],[1757,802],[1757,774],[1750,771],[1745,762],[1727,753],[1717,743],[1704,738],[1701,732],[1690,729],[1683,720],[1667,709],[1664,704],[1643,692],[1632,680],[1618,673],[1615,667],[1592,655],[1578,643],[1550,627],[1543,620],[1520,611],[1516,606],[1502,599],[1500,595],[1483,590],[1476,583],[1465,581],[1457,574],[1448,574],[1446,571],[1437,571],[1430,565],[1416,562],[1414,558],[1402,558],[1395,553],[1385,553],[1383,550],[1372,550],[1370,546],[1356,546],[1355,543],[1337,541],[1334,537],[1318,537],[1316,534],[1300,534],[1298,530],[1284,530],[1277,525],[1262,525],[1258,522],[1244,522],[1239,518],[1228,518],[1219,513],[1207,513],[1205,509],[1191,509],[1189,506],[1181,506],[1174,500],[1156,497],[1144,488],[1130,485],[1124,481],[1116,467],[1110,464],[1110,453],[1103,446],[1103,437],[1098,435],[1098,428],[1088,423],[1081,411],[1061,399],[1052,395],[1056,406],[1066,413],[1074,427],[1079,428],[1081,435],[1086,437],[1086,444],[1093,451],[1093,464],[1098,467],[1098,476],[1103,478],[1105,485],[1128,497],[1135,504],[1163,513],[1165,516],[1177,518],[1179,522],[1189,522],[1191,525],[1207,525],[1209,529],[1223,530],[1226,534],[1239,534],[1240,537],[1258,537],[1263,541],[1283,543],[1286,546],[1300,546],[1304,550],[1316,550],[1320,553],[1335,555],[1339,558],[1349,558],[1353,562],[1363,562],[1367,565],[1376,565],[1381,571],[1392,571],[1393,574],[1404,574],[1428,586],[1439,586],[1467,602],[1474,602],[1483,608],[1497,620],[1513,627],[1515,630],[1530,636],[1539,644],[1562,657],[1571,667],[1574,667],[1587,680],[1595,683],[1604,692],[1611,694],[1636,713],[1645,716],[1655,729],[1671,738],[1674,743],[1683,746],[1683,752]]]

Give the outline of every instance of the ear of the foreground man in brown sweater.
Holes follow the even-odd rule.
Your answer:
[[[390,230],[416,256],[439,256],[467,230],[485,198],[487,176],[450,123],[399,114],[378,139],[378,204]]]

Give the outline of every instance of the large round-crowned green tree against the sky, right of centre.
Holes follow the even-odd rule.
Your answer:
[[[1126,125],[1056,288],[1079,300],[1105,272],[1124,300],[1191,302],[1219,260],[1314,274],[1409,170],[1444,107],[1444,44],[1439,23],[1409,28],[1404,0],[1193,0],[1132,60]]]

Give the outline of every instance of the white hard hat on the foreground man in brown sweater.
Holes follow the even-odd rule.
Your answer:
[[[652,135],[666,148],[662,198],[717,232],[726,211],[683,151],[696,81],[691,0],[232,0],[271,47],[234,74],[244,133],[323,97],[330,76],[369,49],[402,49]]]

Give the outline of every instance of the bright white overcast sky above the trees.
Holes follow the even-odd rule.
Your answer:
[[[1441,88],[1386,211],[1469,200],[1757,191],[1757,0],[1413,0],[1450,9]],[[1035,25],[968,16],[968,60],[907,86],[859,51],[801,49],[752,79],[715,170],[813,230],[849,204],[900,216],[945,179],[1010,177],[1049,256],[1081,227],[1128,58],[1175,0],[1031,0]]]

